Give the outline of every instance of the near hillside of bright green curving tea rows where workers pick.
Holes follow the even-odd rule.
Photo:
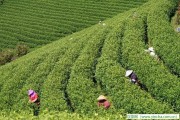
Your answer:
[[[179,113],[180,38],[170,23],[176,5],[175,0],[149,0],[1,66],[0,115],[31,118],[30,88],[40,96],[41,119]],[[149,46],[159,60],[144,51]],[[126,69],[133,69],[148,91],[131,84]],[[100,94],[108,97],[110,109],[97,107]]]

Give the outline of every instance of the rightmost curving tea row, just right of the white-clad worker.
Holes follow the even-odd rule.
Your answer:
[[[157,54],[172,73],[180,76],[180,39],[169,22],[175,7],[176,2],[168,0],[164,4],[154,4],[147,24],[148,36]]]

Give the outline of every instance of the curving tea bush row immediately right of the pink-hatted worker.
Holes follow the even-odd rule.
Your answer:
[[[95,32],[96,29],[93,29],[88,31],[88,34],[83,34],[81,38],[73,38],[64,56],[56,63],[53,71],[48,75],[44,83],[41,109],[48,108],[49,110],[59,111],[72,109],[69,105],[70,103],[68,103],[67,96],[65,96],[71,67],[79,56],[81,49]]]

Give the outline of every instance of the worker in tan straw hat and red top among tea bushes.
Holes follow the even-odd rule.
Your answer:
[[[105,96],[103,96],[103,95],[100,95],[100,96],[97,98],[97,100],[98,100],[98,107],[104,106],[105,109],[108,109],[108,108],[111,106],[110,102],[109,102],[109,101],[107,100],[107,98],[106,98]]]

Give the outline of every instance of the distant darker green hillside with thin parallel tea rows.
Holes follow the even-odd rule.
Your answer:
[[[0,50],[18,43],[42,46],[146,1],[4,0],[0,5]]]

